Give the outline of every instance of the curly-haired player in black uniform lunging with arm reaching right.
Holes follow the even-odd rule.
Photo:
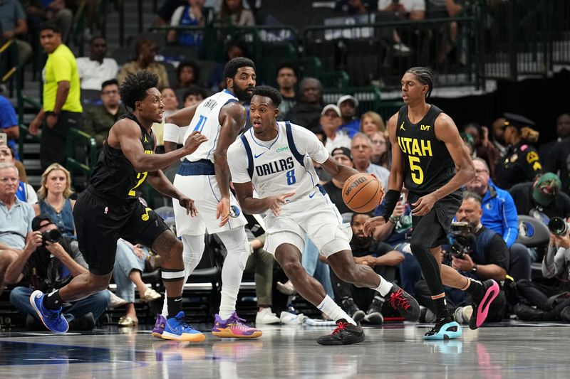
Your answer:
[[[195,341],[198,335],[203,339],[202,333],[183,321],[182,242],[162,218],[142,205],[136,196],[137,188],[148,179],[160,193],[177,198],[189,215],[196,214],[193,201],[177,191],[161,169],[194,152],[207,138],[195,132],[181,149],[154,154],[156,137],[151,126],[153,122],[162,122],[164,111],[157,82],[155,74],[139,71],[128,75],[120,86],[123,103],[132,113],[111,127],[93,167],[89,186],[74,207],[79,248],[89,265],[89,272],[74,277],[65,287],[49,295],[40,291],[31,294],[31,305],[51,331],[65,333],[68,329],[67,321],[61,315],[62,303],[84,299],[108,287],[117,240],[124,238],[150,246],[162,257],[162,279],[171,296],[167,299],[172,315],[172,321],[167,321],[172,324],[170,339]]]

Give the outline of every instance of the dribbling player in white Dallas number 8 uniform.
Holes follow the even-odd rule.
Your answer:
[[[332,159],[309,130],[289,122],[276,122],[281,95],[273,87],[254,90],[249,105],[253,127],[229,147],[227,158],[239,204],[245,213],[264,213],[264,249],[274,254],[295,289],[311,304],[336,321],[337,328],[321,336],[321,345],[346,345],[364,341],[361,326],[351,319],[319,282],[301,265],[307,234],[328,264],[346,282],[368,287],[388,298],[402,316],[417,320],[418,301],[387,282],[367,265],[354,263],[349,242],[351,226],[342,218],[321,186],[311,159],[344,182],[358,172]],[[253,197],[253,190],[259,198]]]

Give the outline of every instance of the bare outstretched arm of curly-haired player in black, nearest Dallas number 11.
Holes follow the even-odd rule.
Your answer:
[[[140,128],[130,119],[121,119],[111,128],[108,144],[119,148],[138,172],[155,171],[170,166],[175,161],[192,154],[200,144],[207,141],[207,137],[194,132],[188,137],[185,146],[166,154],[145,154],[140,143]]]

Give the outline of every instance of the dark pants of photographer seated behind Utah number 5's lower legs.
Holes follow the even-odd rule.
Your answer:
[[[415,284],[415,299],[418,303],[430,309],[434,314],[435,304],[432,300],[430,289],[427,288],[427,282],[425,280],[420,280]],[[445,287],[445,300],[447,301],[447,308],[453,314],[453,311],[457,309],[458,306],[471,305],[473,300],[470,295],[465,291],[461,291],[457,288]],[[486,321],[489,322],[499,322],[503,319],[504,309],[507,306],[507,298],[504,296],[504,292],[501,290],[496,299],[489,306],[489,314],[487,314]]]

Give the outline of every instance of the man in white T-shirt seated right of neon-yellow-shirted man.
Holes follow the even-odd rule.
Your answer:
[[[97,36],[91,38],[88,57],[77,58],[77,70],[82,90],[100,90],[104,82],[115,79],[119,66],[113,58],[107,55],[107,41]]]

